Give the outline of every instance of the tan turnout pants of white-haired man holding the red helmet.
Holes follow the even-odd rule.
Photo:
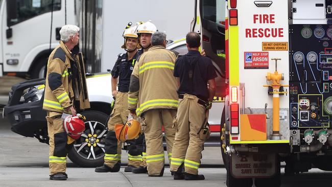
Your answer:
[[[48,132],[50,137],[49,152],[49,168],[50,174],[66,172],[66,158],[68,151],[72,148],[72,144],[67,144],[67,133],[63,129],[63,119],[61,114],[50,116],[50,112],[46,116],[48,122]]]

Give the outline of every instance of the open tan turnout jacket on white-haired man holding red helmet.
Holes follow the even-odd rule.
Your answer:
[[[77,81],[74,77],[69,78],[72,77],[70,60],[78,66],[80,81]],[[82,72],[82,69],[80,68],[81,65],[79,63],[78,55],[73,55],[69,52],[65,44],[60,41],[60,45],[52,51],[47,65],[45,95],[43,101],[44,110],[62,113],[64,112],[64,108],[73,105],[74,99],[80,101],[80,106],[76,106],[77,109],[90,107],[88,98],[83,98],[82,96],[84,91],[78,90],[78,96],[75,98],[72,87],[72,81],[75,81],[75,85],[81,84],[81,86],[76,86],[76,89],[79,87],[86,88],[86,86],[83,86],[82,84],[82,80],[85,79],[85,72],[84,68]],[[87,91],[85,91],[85,93],[87,93]],[[82,103],[84,104],[83,106]]]

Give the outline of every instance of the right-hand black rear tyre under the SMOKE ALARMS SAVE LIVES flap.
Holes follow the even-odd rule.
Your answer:
[[[281,185],[281,176],[280,176],[280,161],[276,163],[277,171],[275,175],[271,178],[255,178],[256,187],[279,187]]]

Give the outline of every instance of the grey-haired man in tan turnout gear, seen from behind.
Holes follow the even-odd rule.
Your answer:
[[[164,171],[162,125],[169,156],[172,155],[175,137],[172,121],[178,107],[177,86],[173,77],[176,56],[165,49],[166,43],[166,34],[152,34],[152,47],[140,56],[129,86],[128,108],[132,114],[142,118],[147,169],[152,177],[161,177]]]

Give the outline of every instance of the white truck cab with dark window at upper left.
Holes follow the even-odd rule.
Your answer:
[[[74,13],[74,1],[54,0],[53,19],[51,0],[0,1],[0,76],[44,77],[59,31],[75,24]]]

